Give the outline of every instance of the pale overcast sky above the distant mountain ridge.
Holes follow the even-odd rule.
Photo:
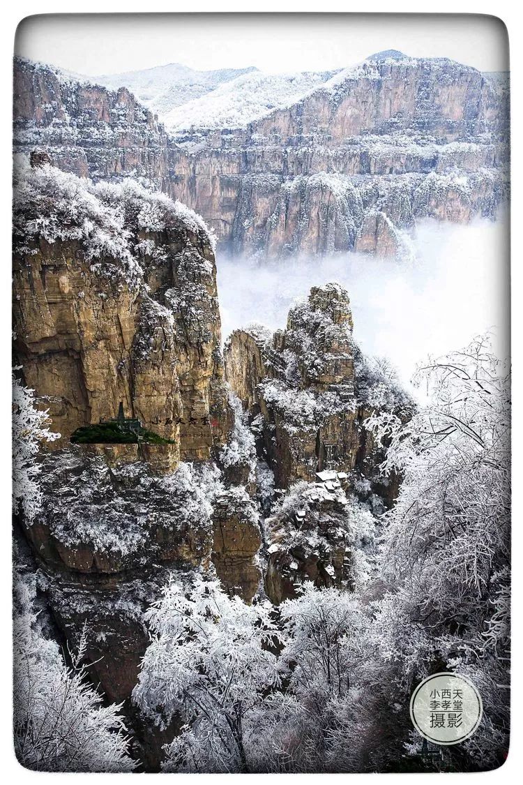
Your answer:
[[[382,49],[450,57],[481,71],[508,68],[503,24],[438,14],[67,14],[30,16],[16,53],[80,74],[182,63],[206,71],[323,71]]]

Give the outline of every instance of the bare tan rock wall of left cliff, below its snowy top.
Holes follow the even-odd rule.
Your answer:
[[[162,456],[165,462],[169,452],[169,466],[180,456],[209,458],[213,443],[227,438],[231,412],[212,251],[176,232],[162,239],[173,253],[157,288],[151,276],[149,292],[129,289],[122,276],[93,272],[76,242],[42,240],[34,254],[16,258],[16,353],[25,382],[62,434],[55,449],[80,425],[114,417],[120,401],[127,416],[175,441]],[[183,268],[206,271],[206,263],[205,280],[181,275]],[[162,304],[165,287],[172,308]],[[158,457],[158,451],[148,453]]]

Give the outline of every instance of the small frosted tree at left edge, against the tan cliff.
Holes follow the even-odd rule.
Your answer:
[[[35,462],[42,441],[60,438],[49,430],[48,411],[35,407],[35,391],[13,377],[13,513],[19,510],[31,524],[42,502],[40,467]]]

